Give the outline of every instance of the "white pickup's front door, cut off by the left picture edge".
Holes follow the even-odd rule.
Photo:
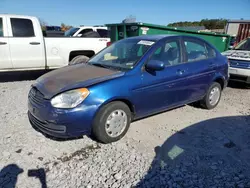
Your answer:
[[[9,50],[9,38],[6,18],[0,16],[0,69],[11,69],[11,57]]]

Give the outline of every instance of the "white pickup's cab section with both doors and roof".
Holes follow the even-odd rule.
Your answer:
[[[0,15],[0,69],[44,67],[43,45],[35,17]]]

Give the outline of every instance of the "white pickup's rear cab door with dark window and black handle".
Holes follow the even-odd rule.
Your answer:
[[[41,26],[29,18],[9,17],[10,53],[13,67],[45,68],[45,49]]]

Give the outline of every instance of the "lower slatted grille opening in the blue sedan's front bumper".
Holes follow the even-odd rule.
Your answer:
[[[66,132],[66,127],[62,125],[51,125],[46,122],[42,122],[35,118],[30,112],[28,113],[29,115],[29,120],[31,124],[35,127],[37,127],[40,130],[47,130],[50,132],[55,132],[55,133],[65,133]]]

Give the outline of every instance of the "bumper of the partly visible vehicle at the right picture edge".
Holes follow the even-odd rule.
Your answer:
[[[250,69],[229,67],[230,80],[250,84]]]

